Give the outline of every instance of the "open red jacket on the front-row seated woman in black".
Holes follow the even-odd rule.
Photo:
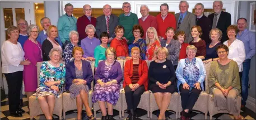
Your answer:
[[[145,90],[147,91],[148,87],[148,67],[145,60],[139,59],[139,86],[144,85]],[[132,75],[133,75],[133,60],[128,60],[125,62],[124,65],[124,83],[123,87],[125,88],[126,85],[132,84]]]

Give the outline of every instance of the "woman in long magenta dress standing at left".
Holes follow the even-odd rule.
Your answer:
[[[42,61],[42,51],[41,44],[36,41],[39,33],[39,27],[36,25],[30,25],[27,28],[27,33],[29,35],[29,39],[25,41],[24,44],[24,52],[25,52],[25,60],[29,60],[31,62],[30,65],[24,66],[24,85],[25,92],[27,95],[27,99],[35,93],[36,88],[38,88],[38,76],[36,72],[36,63]]]

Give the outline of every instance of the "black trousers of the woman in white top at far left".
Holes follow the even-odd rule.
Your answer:
[[[8,85],[9,111],[14,113],[20,105],[20,90],[22,87],[23,71],[4,74]]]

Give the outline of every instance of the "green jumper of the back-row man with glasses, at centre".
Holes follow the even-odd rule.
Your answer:
[[[138,16],[132,12],[129,16],[124,16],[124,13],[119,16],[119,25],[124,27],[124,37],[129,40],[128,44],[131,44],[134,40],[132,28],[138,24]]]

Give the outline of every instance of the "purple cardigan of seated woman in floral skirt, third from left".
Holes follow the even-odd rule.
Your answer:
[[[97,70],[94,75],[95,82],[99,79],[105,78],[105,60],[101,61],[98,64]],[[109,76],[106,79],[115,79],[118,83],[120,83],[123,79],[123,72],[121,69],[121,65],[118,61],[114,61],[114,64],[111,66],[109,70]]]

